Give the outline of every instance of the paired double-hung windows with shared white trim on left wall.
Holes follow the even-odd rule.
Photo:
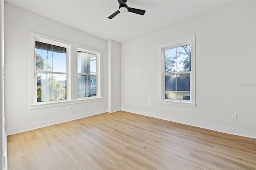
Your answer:
[[[30,32],[30,109],[101,98],[101,51]]]

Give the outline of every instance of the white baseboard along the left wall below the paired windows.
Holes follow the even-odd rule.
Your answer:
[[[106,113],[106,112],[107,112],[107,109],[102,109],[102,110],[97,110],[97,111],[92,111],[92,112],[81,113],[81,114],[78,114],[78,115],[72,115],[72,116],[68,116],[68,117],[61,117],[59,119],[52,119],[52,120],[49,120],[49,121],[33,123],[33,124],[30,124],[30,125],[8,128],[8,129],[6,129],[6,135],[8,136],[8,135],[11,135],[11,134],[25,132],[25,131],[28,131],[28,130],[33,130],[33,129],[41,128],[41,127],[47,127],[47,126],[50,126],[50,125],[55,125],[55,124],[58,124],[58,123],[63,123],[63,122],[68,122],[68,121],[72,121],[72,120],[76,120],[76,119],[81,119],[81,118],[84,118],[84,117],[98,115],[98,114]]]

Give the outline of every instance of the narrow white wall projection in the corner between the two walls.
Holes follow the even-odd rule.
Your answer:
[[[121,44],[108,40],[108,112],[121,110]]]

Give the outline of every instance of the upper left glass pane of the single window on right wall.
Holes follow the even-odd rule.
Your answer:
[[[176,48],[164,50],[165,56],[165,73],[177,72],[177,55]]]

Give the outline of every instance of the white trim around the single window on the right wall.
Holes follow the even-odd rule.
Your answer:
[[[175,48],[182,45],[191,44],[191,73],[190,73],[190,101],[178,101],[165,99],[165,76],[164,76],[164,49],[165,48]],[[195,65],[196,65],[196,36],[191,36],[184,38],[182,40],[177,40],[174,42],[164,43],[158,46],[158,63],[159,63],[159,84],[158,84],[158,103],[167,104],[167,105],[178,105],[178,106],[187,106],[187,107],[196,107],[196,77],[195,77]]]

